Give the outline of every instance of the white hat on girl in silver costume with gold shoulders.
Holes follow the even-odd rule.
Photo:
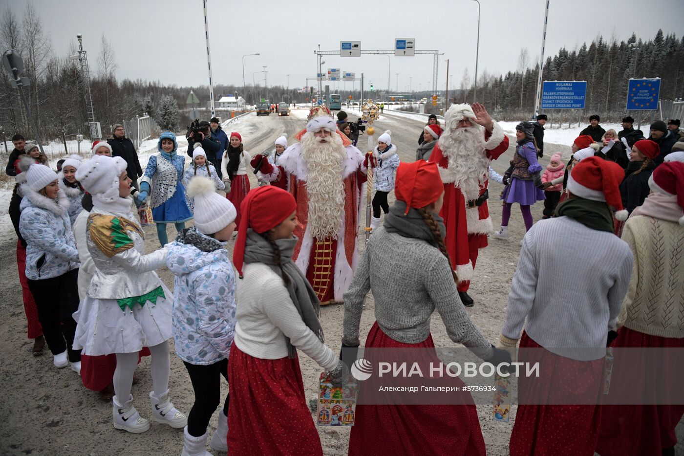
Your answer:
[[[119,197],[119,176],[128,164],[122,157],[93,157],[76,170],[76,180],[92,195],[100,195],[105,201],[115,201]]]

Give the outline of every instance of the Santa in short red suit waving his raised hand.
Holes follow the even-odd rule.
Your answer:
[[[447,228],[445,243],[458,277],[458,294],[471,307],[467,291],[477,253],[487,246],[487,233],[492,231],[486,201],[488,166],[508,149],[508,137],[480,103],[451,105],[444,118],[444,133],[429,161],[436,162],[444,183],[439,215]]]

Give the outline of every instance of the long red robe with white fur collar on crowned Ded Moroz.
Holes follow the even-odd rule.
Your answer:
[[[300,132],[297,138],[300,139]],[[340,132],[337,132],[340,134]],[[346,136],[340,134],[347,157],[343,162],[341,178],[344,183],[345,204],[343,219],[337,238],[317,239],[308,229],[308,195],[306,175],[308,169],[300,156],[301,144],[292,144],[280,155],[280,176],[287,176],[288,190],[297,201],[297,227],[294,234],[299,238],[293,259],[306,275],[322,305],[332,301],[342,302],[354,277],[358,264],[358,226],[361,220],[361,199],[364,183],[368,177],[363,167],[363,154],[352,146]]]

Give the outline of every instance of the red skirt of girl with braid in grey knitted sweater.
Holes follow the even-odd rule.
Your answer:
[[[367,348],[433,348],[393,340],[373,323]],[[231,354],[232,356],[232,354]],[[349,455],[482,455],[486,453],[475,405],[356,405]]]

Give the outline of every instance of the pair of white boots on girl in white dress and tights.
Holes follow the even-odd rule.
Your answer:
[[[132,433],[141,433],[150,429],[150,422],[142,418],[133,407],[133,394],[129,395],[129,400],[121,403],[114,396],[111,398],[114,407],[111,409],[111,418],[114,420],[114,429],[123,429]],[[187,416],[176,410],[176,407],[169,401],[169,392],[157,398],[155,392],[150,392],[150,402],[152,403],[152,413],[156,422],[169,425],[173,428],[181,428],[187,425]],[[226,432],[227,433],[227,432]],[[205,435],[205,442],[207,440]],[[202,453],[204,456],[204,453]]]

